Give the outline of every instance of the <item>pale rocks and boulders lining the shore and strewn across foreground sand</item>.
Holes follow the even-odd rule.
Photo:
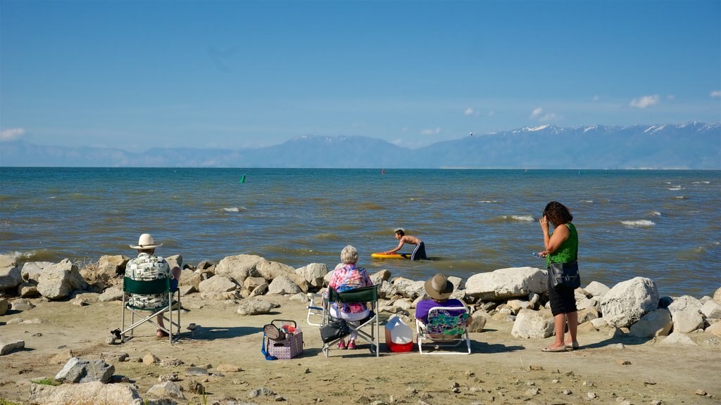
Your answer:
[[[32,323],[32,319],[26,319],[25,313],[32,313],[33,308],[40,305],[48,307],[62,304],[77,308],[118,306],[122,294],[122,276],[128,259],[130,258],[125,256],[104,256],[98,262],[79,268],[68,259],[59,263],[19,264],[13,257],[0,256],[0,290],[4,292],[0,298],[0,321],[6,326]],[[286,306],[297,306],[298,308],[289,311],[295,311],[296,315],[300,311],[300,317],[304,318],[304,306],[309,300],[309,293],[322,291],[327,286],[329,278],[326,264],[311,263],[295,269],[286,264],[247,254],[225,257],[217,264],[208,261],[197,265],[184,264],[180,255],[166,259],[172,266],[177,264],[182,268],[180,290],[185,313],[203,307],[217,306],[232,308],[236,316],[258,316],[265,319],[267,316],[274,316],[278,311],[286,312],[285,307],[280,308],[283,306],[278,303],[280,300]],[[474,336],[482,336],[477,335],[481,332],[487,333],[487,324],[503,324],[510,327],[511,339],[546,339],[552,336],[553,322],[547,308],[545,269],[534,267],[499,269],[472,275],[467,280],[461,280],[453,275],[448,276],[456,286],[451,297],[464,301],[472,308],[474,318],[470,328],[472,339]],[[385,270],[374,273],[371,279],[374,284],[379,285],[381,318],[399,316],[408,324],[412,324],[415,303],[424,298],[425,280],[392,277],[390,272]],[[580,335],[605,334],[609,337],[628,337],[644,341],[662,339],[660,344],[668,347],[692,347],[699,345],[699,342],[707,347],[720,346],[721,288],[716,290],[713,297],[694,298],[689,295],[659,297],[653,280],[634,277],[611,287],[595,281],[589,282],[583,288],[576,290],[576,301]],[[185,320],[182,324],[186,324]],[[302,324],[307,334],[318,334],[316,329],[305,323]],[[317,337],[308,340],[317,340]],[[115,347],[108,346],[106,341],[115,343],[112,339],[108,339],[107,335],[95,339],[97,344],[105,346],[105,350],[108,347],[111,349]],[[0,358],[11,357],[28,348],[24,340],[12,339],[6,337],[6,334],[0,334]],[[155,384],[142,395],[133,388],[133,384],[122,381],[107,384],[118,382],[117,375],[113,375],[115,368],[112,364],[128,362],[131,358],[129,355],[125,357],[106,355],[105,358],[97,359],[79,357],[65,351],[56,355],[65,366],[56,372],[53,380],[64,381],[63,385],[30,384],[30,404],[61,403],[52,402],[50,398],[66,395],[59,392],[71,383],[94,384],[84,386],[84,390],[74,391],[94,392],[95,397],[102,395],[107,398],[110,389],[123,391],[118,393],[120,395],[118,398],[123,398],[115,402],[118,404],[136,403],[128,401],[141,401],[141,397],[146,398],[146,403],[150,404],[182,404],[185,403],[183,401],[187,401],[182,391],[202,395],[198,391],[200,388],[197,387],[193,389],[191,386],[186,386],[181,389],[182,387],[174,382],[178,380],[177,377],[159,377],[161,383]],[[151,353],[139,358],[141,363],[162,362]],[[55,364],[58,364],[58,361]],[[182,361],[177,366],[180,365]],[[225,373],[233,373],[229,370],[239,369],[232,364],[223,363],[223,366],[223,368],[218,366],[216,375],[224,373],[223,370]],[[74,371],[68,371],[66,368]],[[68,376],[87,377],[90,374],[88,370],[101,370],[101,373],[85,380]],[[212,374],[208,374],[208,370],[205,369],[203,375],[208,379],[211,378],[208,375]],[[52,397],[53,395],[55,397]],[[696,395],[702,396],[701,393]],[[270,398],[274,401],[278,400],[278,396],[267,393],[259,393],[258,396],[265,398],[263,401]],[[705,391],[702,397],[713,398]],[[63,403],[82,404],[83,400],[81,397],[76,397],[75,402]],[[587,400],[593,398],[588,396]],[[221,399],[214,401],[216,402],[209,403],[239,403]],[[420,401],[434,403],[423,398],[417,399],[415,403]],[[380,403],[388,402],[386,399]]]

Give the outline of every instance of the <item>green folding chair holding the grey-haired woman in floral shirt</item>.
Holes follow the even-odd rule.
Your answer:
[[[379,357],[380,348],[380,322],[378,317],[378,285],[371,285],[371,287],[355,288],[353,290],[344,291],[342,293],[337,292],[333,288],[328,288],[328,299],[323,302],[323,325],[327,324],[330,319],[330,304],[331,303],[370,303],[371,313],[366,319],[361,320],[361,324],[353,326],[348,324],[348,328],[351,331],[355,330],[358,333],[358,338],[371,344],[371,353],[375,353],[376,357]],[[332,342],[323,344],[323,353],[325,357],[328,357],[328,350],[330,347],[338,342],[340,339],[335,339]]]

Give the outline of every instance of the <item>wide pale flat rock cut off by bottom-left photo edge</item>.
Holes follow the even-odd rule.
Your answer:
[[[102,402],[98,400],[101,398]],[[99,381],[61,386],[32,384],[30,402],[45,405],[143,405],[143,399],[131,384],[104,384]]]

